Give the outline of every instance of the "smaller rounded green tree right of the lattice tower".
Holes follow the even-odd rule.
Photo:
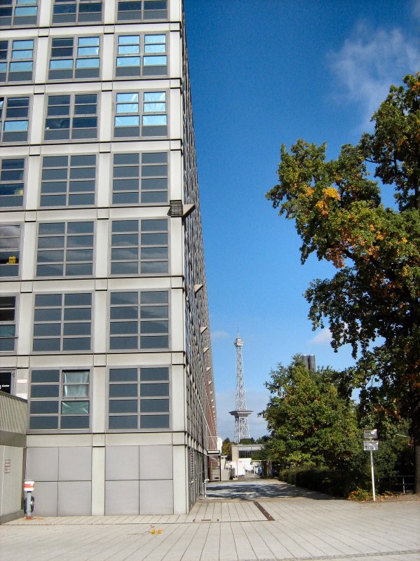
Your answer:
[[[271,460],[284,467],[338,470],[358,464],[362,449],[355,406],[340,396],[333,378],[329,368],[308,370],[302,356],[271,372],[270,400],[261,413],[271,431],[265,445]]]

